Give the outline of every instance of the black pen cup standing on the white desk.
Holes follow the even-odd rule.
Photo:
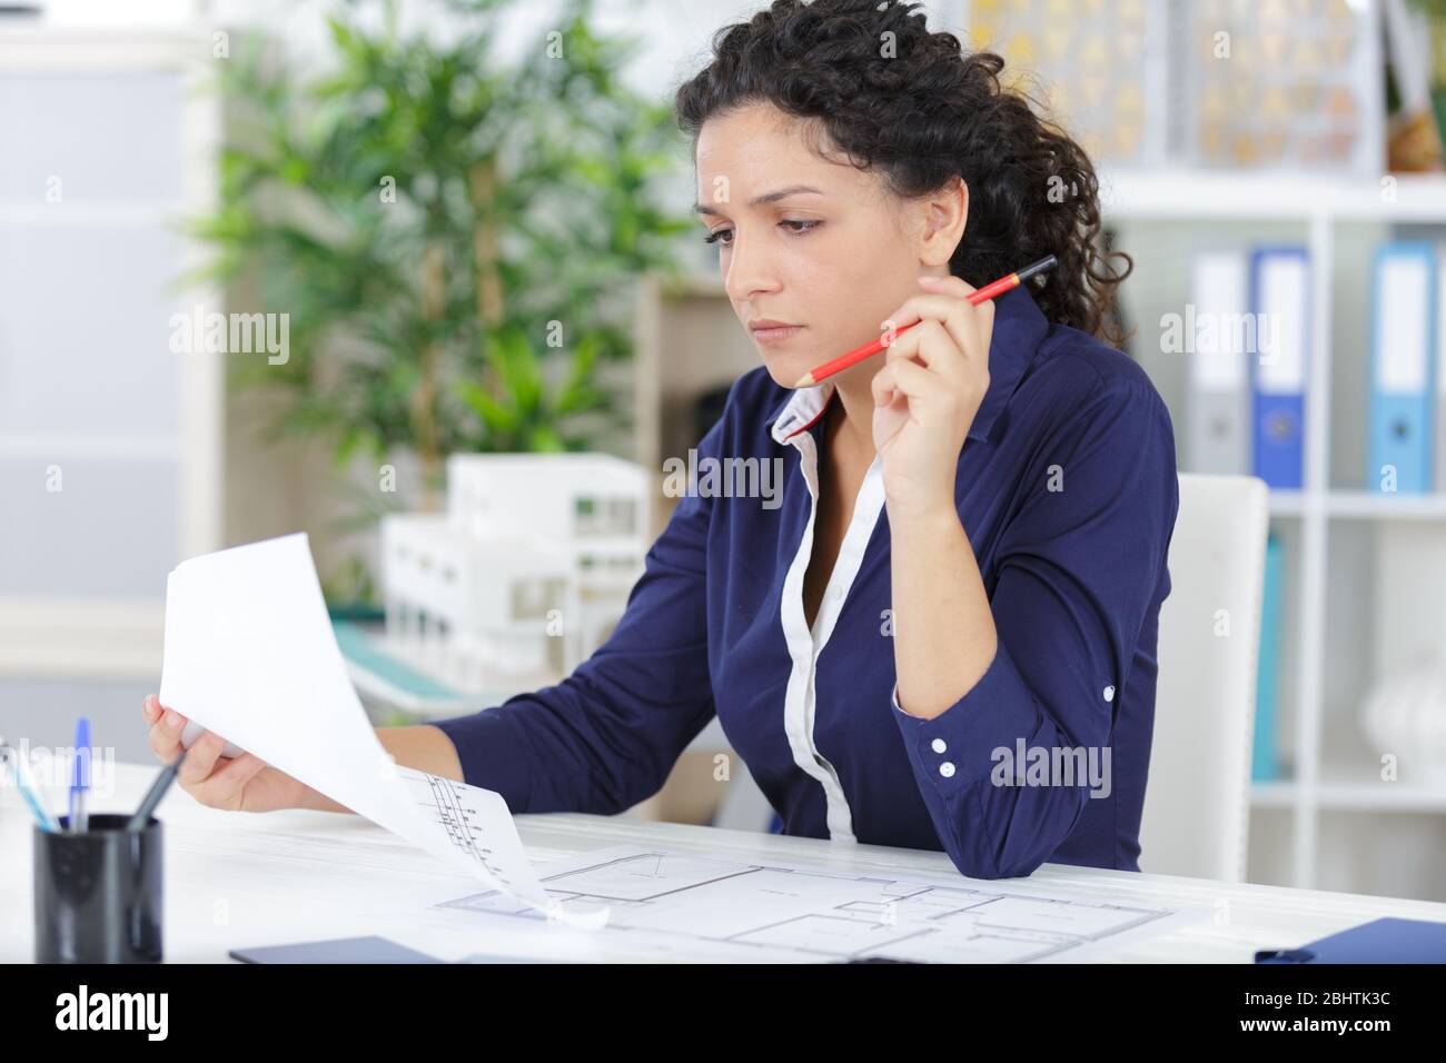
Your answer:
[[[35,962],[161,962],[161,820],[94,814],[87,830],[35,827]]]

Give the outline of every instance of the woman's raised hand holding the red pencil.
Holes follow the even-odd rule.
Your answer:
[[[993,301],[972,305],[975,289],[957,276],[920,278],[920,286],[925,294],[886,323],[918,324],[894,337],[873,376],[873,445],[891,519],[956,511],[959,454],[989,389]]]

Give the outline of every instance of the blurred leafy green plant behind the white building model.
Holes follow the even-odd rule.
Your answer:
[[[218,205],[192,224],[201,273],[259,304],[233,308],[289,315],[285,363],[231,360],[233,382],[282,392],[276,431],[325,437],[338,466],[411,454],[424,509],[450,453],[619,427],[603,370],[632,354],[633,281],[675,273],[691,224],[654,188],[681,158],[671,110],[619,82],[633,43],[589,27],[591,0],[513,65],[493,54],[512,0],[447,7],[429,40],[395,3],[354,4],[305,68],[239,40]]]

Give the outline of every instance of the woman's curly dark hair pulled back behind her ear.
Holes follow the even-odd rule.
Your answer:
[[[769,103],[821,127],[852,165],[878,168],[897,197],[962,176],[969,221],[950,272],[980,286],[1054,255],[1060,265],[1031,282],[1040,309],[1119,346],[1112,304],[1134,260],[1096,247],[1093,163],[1028,95],[1001,84],[1002,56],[966,54],[953,33],[931,33],[920,7],[775,0],[713,35],[711,62],[678,88],[678,126],[696,146],[707,119]]]

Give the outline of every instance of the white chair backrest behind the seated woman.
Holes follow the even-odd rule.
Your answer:
[[[1141,871],[1245,878],[1268,524],[1264,480],[1180,474]]]

